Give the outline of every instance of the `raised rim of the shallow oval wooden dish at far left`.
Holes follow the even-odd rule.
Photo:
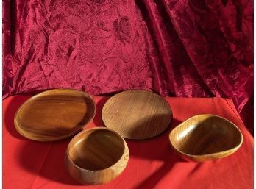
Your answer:
[[[20,113],[20,111],[22,110],[22,108],[24,108],[26,106],[26,104],[28,104],[30,101],[38,98],[38,96],[45,96],[47,95],[47,93],[51,93],[51,92],[54,92],[54,91],[65,91],[65,92],[71,92],[71,93],[82,93],[84,96],[87,96],[88,99],[90,99],[90,101],[93,103],[93,107],[94,107],[94,111],[93,111],[93,115],[92,117],[88,120],[88,122],[81,126],[81,128],[77,129],[77,130],[74,130],[73,132],[70,132],[68,133],[67,135],[63,135],[63,136],[60,136],[60,137],[48,137],[47,140],[40,140],[38,139],[37,137],[34,137],[32,135],[28,135],[26,132],[24,132],[20,127],[20,124],[18,123],[18,114]],[[94,101],[93,97],[90,96],[89,93],[86,93],[85,91],[83,90],[77,90],[77,89],[72,89],[72,88],[54,88],[54,89],[49,89],[49,90],[44,90],[43,92],[40,92],[40,93],[37,93],[35,94],[34,96],[31,96],[29,99],[26,99],[26,101],[24,101],[23,104],[21,104],[20,107],[18,107],[18,110],[16,111],[15,115],[14,115],[14,126],[15,126],[15,129],[17,130],[17,132],[24,136],[25,138],[28,138],[30,140],[35,140],[35,141],[40,141],[40,142],[52,142],[52,141],[57,141],[57,140],[63,140],[65,138],[69,138],[71,137],[72,135],[76,134],[77,132],[79,132],[81,129],[85,128],[85,126],[88,126],[88,124],[90,124],[91,121],[93,121],[93,118],[95,117],[96,115],[96,109],[97,109],[97,106],[96,106],[96,102]]]

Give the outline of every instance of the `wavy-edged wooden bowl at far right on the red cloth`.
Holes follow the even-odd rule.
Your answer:
[[[196,115],[174,128],[171,146],[185,160],[227,157],[239,149],[243,135],[235,124],[217,115]]]

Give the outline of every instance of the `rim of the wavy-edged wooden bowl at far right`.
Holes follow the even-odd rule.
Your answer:
[[[239,133],[240,136],[241,136],[241,140],[240,140],[240,142],[238,143],[238,145],[235,146],[235,147],[232,148],[232,149],[227,149],[227,150],[224,150],[224,151],[218,151],[218,152],[210,153],[210,154],[193,155],[193,154],[187,154],[187,153],[185,153],[185,152],[183,152],[183,151],[180,151],[179,149],[177,149],[177,148],[171,143],[171,133],[172,133],[175,129],[177,129],[180,125],[184,124],[186,121],[189,121],[189,120],[191,120],[191,119],[193,119],[193,118],[195,118],[195,117],[198,117],[198,116],[205,116],[205,115],[207,115],[207,116],[209,116],[209,117],[218,117],[218,118],[221,118],[221,119],[223,119],[224,121],[227,121],[230,125],[232,125],[232,126],[238,131],[238,133]],[[240,146],[242,145],[242,143],[243,143],[243,135],[242,135],[242,133],[241,133],[241,130],[238,128],[238,126],[236,126],[234,123],[232,123],[231,121],[229,121],[227,118],[223,118],[223,117],[221,117],[221,116],[219,116],[219,115],[214,115],[214,114],[209,114],[209,113],[207,113],[207,114],[193,115],[192,117],[190,117],[190,118],[186,119],[185,121],[182,121],[182,123],[178,124],[178,125],[177,125],[174,129],[172,129],[171,132],[169,133],[169,142],[170,142],[170,144],[171,144],[171,147],[172,147],[175,151],[177,151],[178,153],[183,154],[183,155],[188,156],[188,157],[192,157],[192,158],[198,159],[198,158],[212,157],[212,156],[214,156],[214,155],[223,154],[223,153],[228,154],[228,153],[230,153],[230,152],[232,152],[232,151],[238,150],[238,149],[240,148]]]

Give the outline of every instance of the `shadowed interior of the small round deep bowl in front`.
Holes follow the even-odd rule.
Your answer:
[[[82,132],[68,146],[71,161],[90,171],[109,168],[124,154],[124,140],[107,129]]]

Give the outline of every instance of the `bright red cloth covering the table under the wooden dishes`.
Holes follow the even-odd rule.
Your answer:
[[[3,103],[3,184],[4,189],[247,189],[253,188],[253,138],[243,125],[230,99],[166,98],[174,113],[171,126],[149,140],[126,140],[129,163],[110,183],[79,185],[64,168],[64,154],[71,138],[40,143],[23,138],[15,131],[13,117],[28,96],[12,96]],[[92,126],[103,126],[100,117],[107,97],[94,97],[97,113]],[[168,134],[177,124],[193,115],[213,113],[229,119],[241,129],[243,144],[235,154],[221,160],[194,163],[182,160],[171,149]]]

